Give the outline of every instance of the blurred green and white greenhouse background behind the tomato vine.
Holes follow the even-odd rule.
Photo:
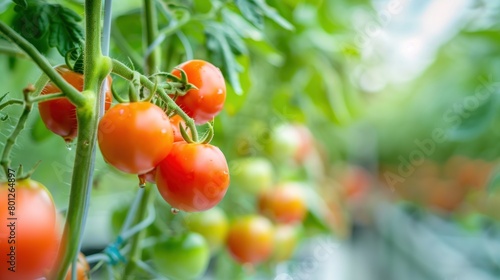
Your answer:
[[[79,1],[57,2],[83,13]],[[162,2],[162,26],[185,10],[217,10],[210,24],[192,20],[165,34],[161,70],[202,58],[228,81],[212,142],[231,168],[220,208],[230,220],[256,213],[259,188],[283,182],[300,182],[307,198],[285,260],[249,269],[221,249],[204,279],[500,278],[500,2],[267,0],[253,18],[228,1]],[[13,20],[12,6],[0,4],[2,20]],[[110,54],[138,70],[140,7],[115,1]],[[1,93],[21,96],[40,72],[0,55],[0,73]],[[4,141],[20,112],[2,113]],[[32,114],[14,166],[41,160],[33,178],[63,213],[73,159]],[[259,159],[270,163],[267,175],[242,163]],[[94,180],[87,255],[113,242],[137,189],[136,177],[100,155]],[[172,215],[158,197],[163,226],[188,215]]]

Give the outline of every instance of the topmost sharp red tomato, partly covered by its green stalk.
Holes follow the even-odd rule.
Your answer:
[[[192,89],[176,99],[186,114],[196,124],[204,124],[212,120],[224,107],[226,100],[226,83],[219,68],[203,60],[189,60],[177,66],[186,72],[188,82],[198,89]],[[181,77],[177,69],[172,74]]]

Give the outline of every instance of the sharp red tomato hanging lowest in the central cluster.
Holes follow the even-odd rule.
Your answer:
[[[160,194],[172,207],[188,212],[217,205],[229,186],[229,169],[219,148],[176,142],[156,169]]]

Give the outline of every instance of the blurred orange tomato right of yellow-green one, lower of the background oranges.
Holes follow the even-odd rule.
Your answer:
[[[258,264],[267,260],[273,252],[273,243],[273,225],[262,216],[240,218],[229,228],[227,248],[241,264]]]

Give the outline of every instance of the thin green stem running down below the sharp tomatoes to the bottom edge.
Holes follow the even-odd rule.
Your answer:
[[[144,194],[143,194],[141,201],[139,203],[139,207],[138,207],[138,211],[137,211],[137,215],[136,215],[136,219],[135,219],[136,223],[139,223],[146,218],[146,214],[147,214],[146,210],[147,210],[148,204],[150,203],[150,197],[152,197],[151,194],[152,194],[151,186],[147,186],[144,189]],[[134,237],[132,237],[132,239],[130,240],[130,246],[131,246],[130,253],[129,253],[130,257],[129,257],[129,260],[127,262],[127,265],[125,266],[125,270],[123,272],[123,279],[128,279],[130,277],[131,273],[134,271],[135,266],[136,266],[135,261],[141,259],[142,249],[140,246],[140,242],[142,239],[144,239],[145,233],[146,232],[143,229],[138,234],[134,235]]]

